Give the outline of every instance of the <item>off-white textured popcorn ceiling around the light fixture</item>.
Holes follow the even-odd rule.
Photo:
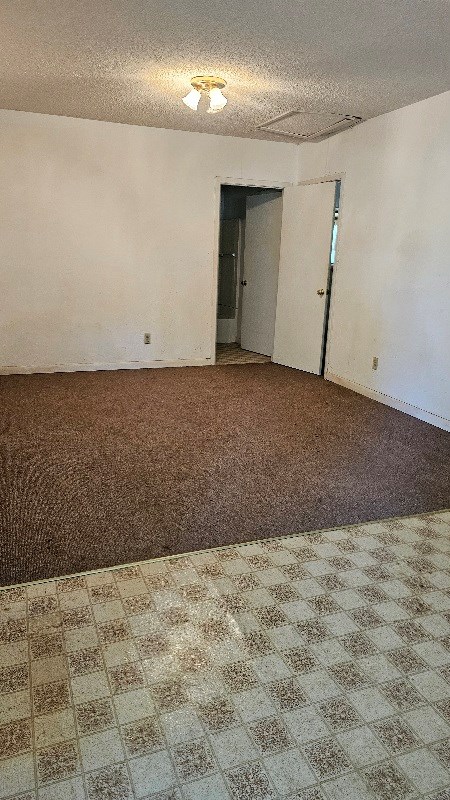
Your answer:
[[[228,81],[220,114],[181,103]],[[1,0],[0,107],[279,139],[293,109],[364,118],[450,88],[449,0]]]

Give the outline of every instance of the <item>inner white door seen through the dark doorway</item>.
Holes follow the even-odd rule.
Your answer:
[[[282,207],[280,192],[247,197],[241,347],[266,356],[273,352]]]

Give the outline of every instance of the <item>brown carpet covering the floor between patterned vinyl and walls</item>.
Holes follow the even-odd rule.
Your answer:
[[[1,585],[450,506],[450,434],[274,364],[0,390]]]

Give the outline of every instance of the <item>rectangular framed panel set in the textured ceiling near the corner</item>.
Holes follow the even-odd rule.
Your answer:
[[[258,125],[261,131],[275,133],[278,136],[289,136],[304,142],[320,142],[334,133],[353,128],[362,122],[362,117],[350,114],[331,114],[316,111],[289,111],[281,117]]]

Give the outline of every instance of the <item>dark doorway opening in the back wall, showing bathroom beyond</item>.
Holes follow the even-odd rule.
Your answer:
[[[282,190],[222,185],[216,363],[273,355]]]

